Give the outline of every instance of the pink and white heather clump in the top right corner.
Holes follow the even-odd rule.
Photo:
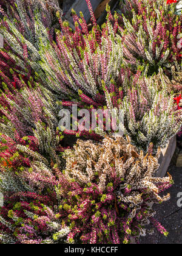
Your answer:
[[[152,75],[162,67],[168,76],[175,65],[181,69],[177,36],[181,32],[181,16],[175,15],[175,4],[160,1],[121,1],[125,35],[123,54],[133,70],[143,65],[146,74]],[[130,17],[130,18],[129,18]]]

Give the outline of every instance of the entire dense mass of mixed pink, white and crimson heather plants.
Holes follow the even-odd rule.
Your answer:
[[[71,29],[56,1],[0,9],[0,243],[126,244],[147,224],[167,235],[149,204],[170,198],[172,177],[155,174],[182,126],[177,2],[121,1],[101,27],[86,2],[91,30],[74,10]],[[102,110],[103,126],[60,130],[61,109],[80,122],[73,105]],[[106,109],[123,113],[122,137]]]

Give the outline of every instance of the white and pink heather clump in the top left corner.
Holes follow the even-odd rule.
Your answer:
[[[59,5],[56,5],[56,3],[57,1],[54,0],[52,1],[52,5],[50,1],[43,0],[16,0],[14,7],[8,5],[8,11],[4,13],[4,26],[6,25],[8,27],[10,34],[13,32],[16,35],[18,30],[18,34],[22,34],[24,39],[27,40],[27,43],[31,43],[36,49],[39,49],[40,35],[38,35],[36,20],[41,21],[43,26],[49,31],[50,38],[53,37],[57,23],[55,12],[56,10],[61,12]],[[55,9],[53,7],[51,8],[51,6],[54,6]],[[18,35],[16,36],[18,39]],[[18,48],[18,46],[14,47]]]

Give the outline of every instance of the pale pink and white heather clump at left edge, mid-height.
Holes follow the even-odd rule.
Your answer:
[[[36,129],[38,121],[46,124],[49,121],[52,127],[57,127],[56,113],[59,108],[53,94],[46,90],[43,93],[41,86],[35,85],[35,88],[32,88],[30,83],[29,86],[22,83],[21,90],[14,90],[14,93],[11,93],[4,84],[5,91],[0,96],[2,132],[7,130],[10,133],[15,129],[20,137],[33,135],[33,129]]]

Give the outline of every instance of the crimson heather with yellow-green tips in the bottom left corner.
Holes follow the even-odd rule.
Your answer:
[[[59,219],[49,197],[30,192],[13,194],[8,197],[8,204],[0,210],[0,242],[66,243],[70,229]]]

